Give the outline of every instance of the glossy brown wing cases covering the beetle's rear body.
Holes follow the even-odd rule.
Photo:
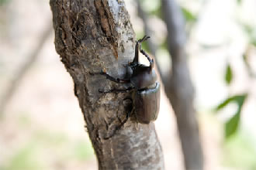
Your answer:
[[[160,83],[144,90],[133,92],[133,109],[137,121],[141,124],[149,124],[157,119],[160,107]]]

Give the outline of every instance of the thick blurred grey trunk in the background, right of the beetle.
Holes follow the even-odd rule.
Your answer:
[[[168,27],[168,50],[171,54],[171,76],[164,76],[165,92],[177,118],[186,169],[203,168],[198,122],[193,106],[194,89],[185,54],[185,22],[174,0],[162,0],[164,20]]]

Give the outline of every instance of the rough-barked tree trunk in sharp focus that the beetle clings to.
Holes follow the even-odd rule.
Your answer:
[[[131,93],[99,93],[127,85],[89,73],[126,76],[123,65],[132,61],[136,39],[124,2],[50,0],[50,6],[56,50],[74,80],[99,169],[164,169],[153,123],[138,124],[131,115],[116,131],[130,110],[130,100],[124,99]]]

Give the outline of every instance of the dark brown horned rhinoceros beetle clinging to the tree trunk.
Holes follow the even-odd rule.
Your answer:
[[[130,83],[133,86],[125,90],[110,90],[108,92],[100,93],[111,93],[111,92],[125,92],[127,90],[133,90],[132,103],[133,109],[126,115],[126,120],[123,121],[122,125],[128,120],[131,113],[135,113],[137,121],[141,124],[149,124],[150,121],[155,121],[159,112],[160,105],[160,83],[157,82],[157,74],[154,71],[154,59],[150,59],[144,49],[141,49],[140,43],[149,39],[149,36],[144,36],[143,39],[139,39],[135,46],[135,56],[133,62],[128,63],[132,73],[128,79],[119,79],[110,76],[105,71],[98,74],[106,76],[107,79],[112,80],[116,83]],[[147,57],[150,66],[145,66],[139,63],[139,53],[142,53]],[[95,74],[95,73],[92,73]]]

